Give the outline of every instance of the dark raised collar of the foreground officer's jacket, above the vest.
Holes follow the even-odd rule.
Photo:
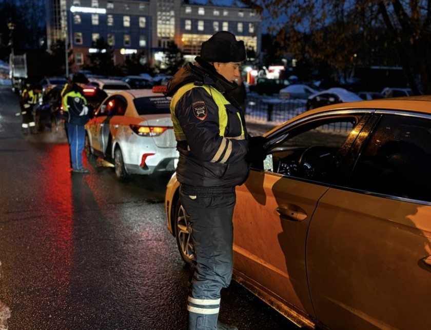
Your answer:
[[[190,62],[185,64],[169,80],[166,96],[173,96],[182,86],[189,83],[194,83],[196,86],[211,86],[220,93],[225,93],[238,87],[237,83],[230,83],[201,57],[197,56],[195,60],[197,65]]]

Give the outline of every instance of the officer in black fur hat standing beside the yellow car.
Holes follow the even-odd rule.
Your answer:
[[[218,321],[220,291],[232,276],[235,187],[248,176],[248,135],[237,88],[244,42],[227,31],[202,44],[196,64],[169,81],[171,117],[180,153],[180,199],[191,223],[195,267],[187,300],[188,329],[237,329]]]

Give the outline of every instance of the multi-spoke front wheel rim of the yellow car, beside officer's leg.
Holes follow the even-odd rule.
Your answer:
[[[178,200],[173,213],[173,226],[180,256],[185,263],[191,264],[194,259],[194,247],[191,239],[191,226],[188,222],[183,205]]]

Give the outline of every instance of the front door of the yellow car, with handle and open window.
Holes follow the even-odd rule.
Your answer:
[[[268,138],[268,156],[237,187],[234,269],[285,306],[314,317],[306,273],[307,232],[318,200],[339,180],[337,159],[367,113],[310,115]],[[339,127],[327,134],[328,125]]]

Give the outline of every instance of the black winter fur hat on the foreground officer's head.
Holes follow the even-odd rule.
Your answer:
[[[241,62],[246,58],[244,42],[228,31],[219,31],[202,43],[200,56],[207,62]]]

